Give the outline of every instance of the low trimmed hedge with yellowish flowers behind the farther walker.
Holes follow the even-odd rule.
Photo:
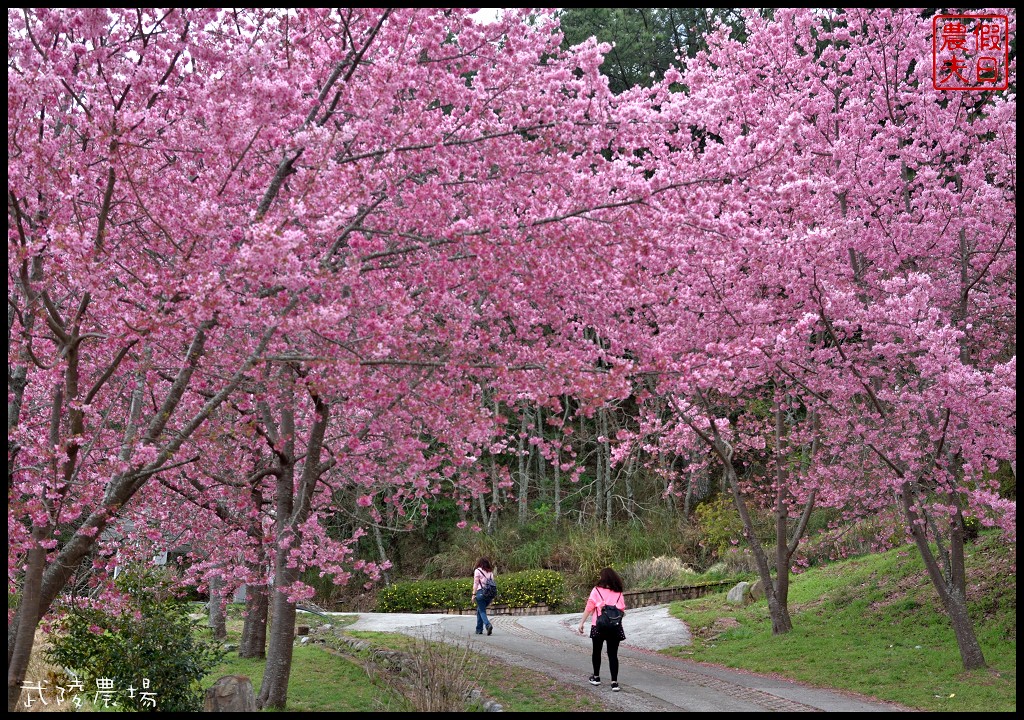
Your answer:
[[[565,598],[565,582],[561,574],[554,570],[495,575],[495,580],[498,583],[496,605],[555,606]],[[377,594],[377,611],[422,612],[450,607],[473,609],[476,604],[471,595],[472,589],[472,578],[394,583]]]

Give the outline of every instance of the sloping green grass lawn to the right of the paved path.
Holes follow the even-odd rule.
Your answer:
[[[949,621],[913,548],[795,576],[794,629],[785,635],[771,635],[764,600],[736,608],[717,594],[673,603],[694,644],[670,652],[921,710],[1014,712],[1016,548],[983,536],[969,552],[968,599],[988,669],[964,671]]]

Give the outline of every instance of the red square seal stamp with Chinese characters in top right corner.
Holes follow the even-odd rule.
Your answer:
[[[1010,87],[1007,15],[932,17],[932,86],[936,90]]]

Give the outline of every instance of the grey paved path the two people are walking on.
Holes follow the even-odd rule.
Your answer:
[[[347,630],[420,635],[472,645],[510,665],[529,668],[560,682],[591,687],[591,640],[577,633],[581,613],[493,617],[492,636],[474,634],[473,616],[361,613]],[[791,680],[727,670],[657,650],[687,645],[686,625],[667,605],[629,610],[627,639],[618,646],[618,683],[611,692],[607,655],[602,652],[600,687],[593,687],[609,709],[631,712],[900,712],[890,703]]]

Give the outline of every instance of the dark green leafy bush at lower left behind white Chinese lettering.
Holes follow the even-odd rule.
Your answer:
[[[104,706],[201,711],[200,680],[223,651],[197,637],[187,603],[170,592],[160,574],[126,573],[117,584],[127,594],[127,607],[117,616],[96,607],[68,608],[49,638],[47,660],[77,676],[90,695],[100,687],[96,681],[105,680],[109,700],[97,695]]]

